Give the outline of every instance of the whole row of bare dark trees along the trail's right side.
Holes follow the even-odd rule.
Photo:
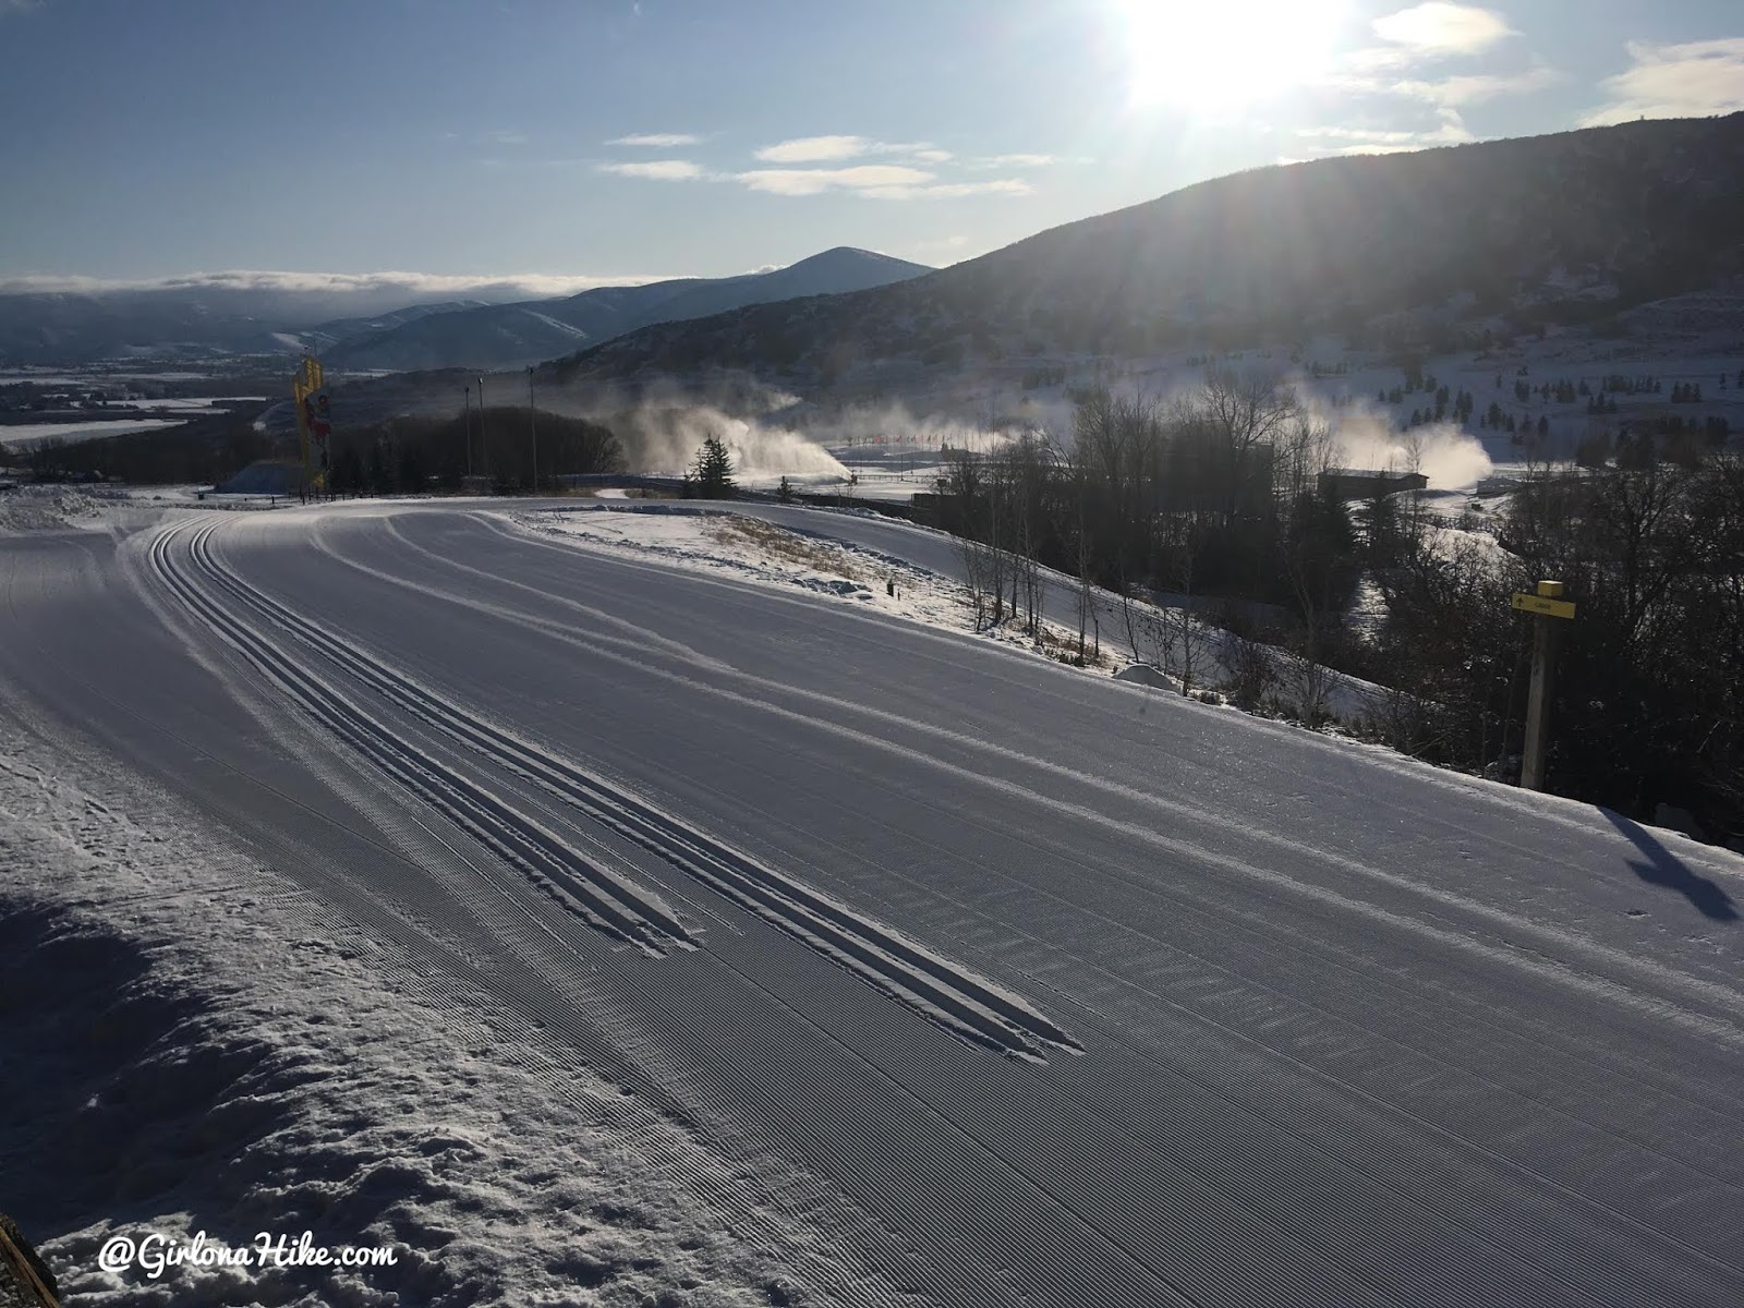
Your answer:
[[[1570,586],[1549,787],[1652,818],[1744,830],[1744,459],[1636,434],[1599,467],[1540,466],[1493,530],[1420,495],[1346,502],[1336,443],[1289,391],[1212,371],[1170,401],[1093,391],[1067,436],[952,452],[938,525],[964,539],[980,623],[1038,626],[1039,570],[1160,598],[1100,630],[1184,685],[1216,651],[1245,706],[1322,717],[1332,671],[1385,687],[1366,727],[1437,764],[1517,774],[1529,621],[1509,596]],[[1672,459],[1671,455],[1676,455]],[[1463,523],[1477,527],[1475,518]],[[1366,581],[1378,621],[1348,609]],[[1174,624],[1174,626],[1170,626]]]

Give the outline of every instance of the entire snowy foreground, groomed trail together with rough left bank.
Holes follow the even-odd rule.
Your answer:
[[[0,534],[70,1303],[1744,1301],[1744,858],[977,637],[919,528],[520,513]],[[199,1231],[396,1263],[99,1266]]]

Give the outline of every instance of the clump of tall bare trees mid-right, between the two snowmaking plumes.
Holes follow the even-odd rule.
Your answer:
[[[1069,438],[1025,433],[991,455],[952,450],[937,516],[994,555],[1120,595],[1277,609],[1271,621],[1320,651],[1338,638],[1331,616],[1360,563],[1350,514],[1318,476],[1332,452],[1331,429],[1292,392],[1235,373],[1212,370],[1200,391],[1170,401],[1092,389]],[[1013,607],[1027,617],[1027,572],[989,567],[999,584],[985,588],[987,621]]]

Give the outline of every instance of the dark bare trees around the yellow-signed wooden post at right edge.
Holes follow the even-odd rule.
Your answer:
[[[1393,743],[1512,771],[1531,624],[1509,596],[1552,577],[1577,619],[1561,633],[1549,788],[1744,832],[1744,459],[1674,462],[1638,436],[1617,464],[1536,467],[1496,544],[1409,530],[1373,542],[1386,623],[1366,661],[1395,691]]]

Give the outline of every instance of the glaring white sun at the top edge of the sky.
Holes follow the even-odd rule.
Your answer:
[[[1231,108],[1325,72],[1346,0],[1121,0],[1135,105]]]

